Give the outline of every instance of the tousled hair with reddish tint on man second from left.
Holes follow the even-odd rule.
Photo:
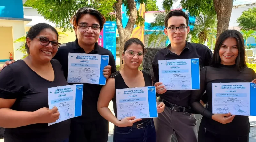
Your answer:
[[[82,8],[78,9],[76,14],[70,20],[70,22],[73,24],[73,28],[74,29],[77,28],[78,20],[84,14],[93,15],[93,16],[95,16],[99,20],[99,22],[100,22],[99,23],[100,24],[100,32],[101,32],[101,30],[103,29],[103,25],[106,22],[106,19],[98,10],[96,10],[94,8],[91,8],[91,7],[82,7]]]

